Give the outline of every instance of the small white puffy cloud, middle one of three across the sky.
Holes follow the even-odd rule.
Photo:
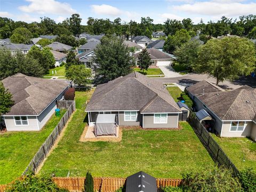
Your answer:
[[[92,11],[97,14],[104,14],[110,16],[118,16],[122,14],[122,11],[119,10],[117,7],[111,5],[91,5]]]

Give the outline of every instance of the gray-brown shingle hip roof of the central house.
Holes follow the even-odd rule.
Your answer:
[[[98,85],[86,111],[139,110],[141,113],[179,113],[162,83],[133,72]]]

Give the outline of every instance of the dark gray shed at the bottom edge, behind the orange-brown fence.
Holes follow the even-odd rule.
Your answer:
[[[126,179],[126,192],[157,192],[156,178],[140,171]]]

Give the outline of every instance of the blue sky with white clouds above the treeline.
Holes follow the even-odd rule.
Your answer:
[[[150,17],[154,23],[163,23],[167,18],[190,18],[196,24],[201,19],[205,23],[218,21],[223,15],[235,19],[256,14],[256,0],[0,0],[0,17],[14,21],[39,22],[40,17],[50,17],[58,23],[73,13],[80,14],[82,25],[86,25],[89,17],[110,20],[119,17],[126,22]]]

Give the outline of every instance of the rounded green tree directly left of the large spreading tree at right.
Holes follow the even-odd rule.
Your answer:
[[[177,47],[174,51],[174,55],[177,58],[175,62],[191,70],[193,66],[196,65],[200,45],[198,41],[194,40]]]

